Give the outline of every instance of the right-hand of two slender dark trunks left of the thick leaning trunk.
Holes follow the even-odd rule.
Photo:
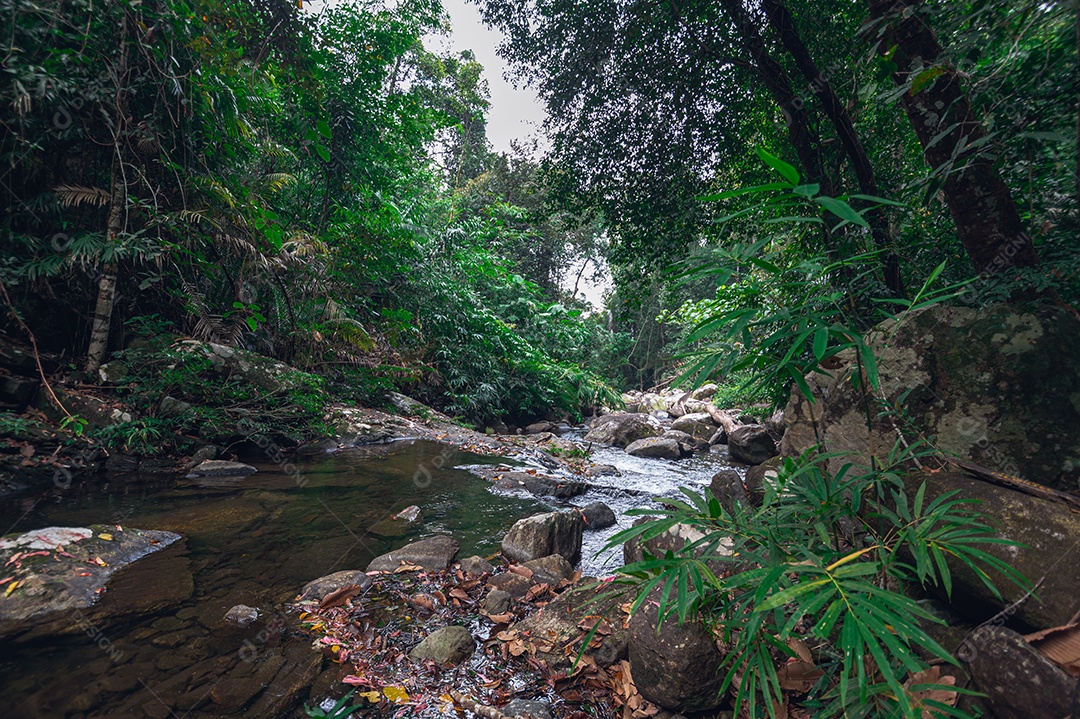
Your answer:
[[[810,51],[807,50],[802,38],[799,37],[795,22],[792,19],[792,14],[780,0],[764,0],[761,6],[769,18],[769,24],[780,37],[784,49],[791,54],[802,77],[806,78],[807,82],[810,83],[810,87],[821,99],[825,114],[833,122],[833,126],[836,127],[836,134],[840,138],[840,144],[843,146],[843,150],[848,153],[848,157],[851,158],[851,167],[855,173],[855,179],[859,181],[860,192],[876,196],[878,188],[877,179],[874,177],[874,166],[870,164],[869,157],[866,154],[863,144],[859,140],[854,124],[851,122],[851,116],[848,114],[848,109],[836,96],[828,78],[818,69],[818,65],[810,56]],[[900,274],[900,258],[892,250],[892,238],[889,233],[888,218],[880,208],[875,208],[867,213],[867,221],[870,226],[874,244],[879,250],[885,253],[886,285],[894,295],[902,297],[904,295],[904,283]]]

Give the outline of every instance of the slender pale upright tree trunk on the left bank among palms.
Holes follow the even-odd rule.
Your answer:
[[[112,178],[109,187],[109,219],[105,242],[111,245],[124,229],[124,212],[127,208],[127,180],[124,177],[123,145],[127,124],[127,12],[124,11],[120,24],[120,62],[117,65],[116,116],[112,128]],[[112,308],[117,301],[117,280],[119,267],[116,260],[100,266],[97,280],[97,301],[94,304],[94,321],[90,330],[90,347],[86,350],[86,374],[95,379],[105,353],[109,349]]]

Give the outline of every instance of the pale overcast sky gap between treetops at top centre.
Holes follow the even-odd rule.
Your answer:
[[[430,49],[472,50],[484,66],[487,83],[491,89],[491,110],[488,113],[487,138],[496,151],[510,150],[513,139],[526,139],[540,134],[543,123],[543,104],[529,87],[515,89],[505,79],[507,64],[496,54],[502,33],[488,29],[480,18],[476,5],[465,0],[443,0],[443,8],[450,15],[453,35],[428,38]]]

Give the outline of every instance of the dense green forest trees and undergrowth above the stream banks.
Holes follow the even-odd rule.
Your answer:
[[[1075,304],[1075,8],[476,4],[545,153],[491,149],[484,68],[424,46],[436,1],[0,3],[5,331],[95,382],[192,337],[483,424],[702,349],[740,383],[769,335],[707,324],[733,308],[866,328],[931,276]]]

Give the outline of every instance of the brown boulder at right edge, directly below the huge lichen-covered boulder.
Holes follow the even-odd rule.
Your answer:
[[[923,481],[927,484],[926,504],[947,491],[958,491],[960,497],[975,500],[973,508],[986,515],[999,537],[1018,543],[1017,546],[978,545],[980,550],[998,557],[1032,583],[1041,580],[1035,595],[1010,611],[1011,621],[1036,629],[1069,622],[1077,611],[1077,587],[1080,587],[1080,561],[1071,554],[1080,538],[1080,514],[1057,502],[959,473],[912,475],[906,479],[908,494],[914,497]],[[1004,596],[1002,603],[975,572],[960,562],[950,561],[949,568],[953,607],[973,624],[990,619],[1025,594],[1008,578],[988,570],[989,578]]]

